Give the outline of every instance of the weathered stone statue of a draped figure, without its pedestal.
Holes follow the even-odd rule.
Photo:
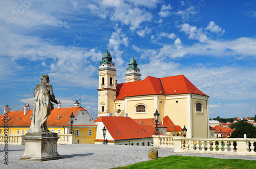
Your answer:
[[[31,114],[32,120],[28,133],[49,132],[47,118],[53,109],[52,102],[58,104],[49,82],[49,76],[43,75],[40,83],[35,87],[35,104],[33,106],[33,113]]]

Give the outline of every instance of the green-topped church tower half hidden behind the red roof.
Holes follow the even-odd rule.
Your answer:
[[[125,82],[134,82],[140,80],[140,69],[138,68],[138,64],[136,63],[134,56],[129,63],[129,68],[126,68],[126,74],[124,76]]]

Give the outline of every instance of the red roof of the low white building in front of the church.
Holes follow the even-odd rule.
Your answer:
[[[152,126],[138,125],[131,117],[102,116],[95,122],[102,122],[114,140],[150,138],[155,130]]]

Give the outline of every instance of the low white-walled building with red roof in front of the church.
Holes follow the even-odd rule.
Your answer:
[[[151,125],[139,125],[130,117],[101,116],[95,120],[97,134],[95,144],[108,139],[109,144],[151,146],[155,128]],[[105,127],[105,138],[102,129]],[[160,133],[160,135],[163,135]]]

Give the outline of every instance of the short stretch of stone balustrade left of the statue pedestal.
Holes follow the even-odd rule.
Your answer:
[[[7,137],[4,134],[0,135],[0,144],[16,144],[25,145],[25,135],[8,134]]]

